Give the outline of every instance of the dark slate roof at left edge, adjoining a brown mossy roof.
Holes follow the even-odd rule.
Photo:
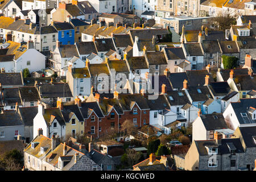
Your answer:
[[[3,105],[15,106],[16,102],[21,105],[18,88],[3,88]]]

